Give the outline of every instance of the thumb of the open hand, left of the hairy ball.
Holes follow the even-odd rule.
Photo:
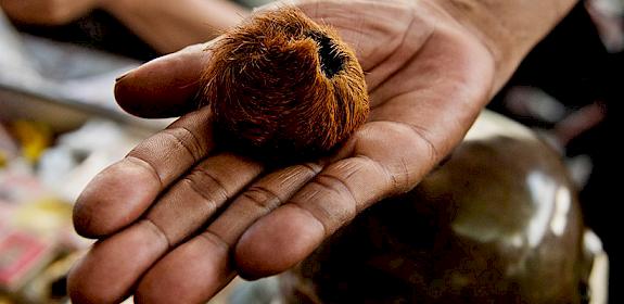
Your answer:
[[[164,55],[120,76],[115,99],[124,111],[140,117],[180,116],[199,107],[202,71],[209,52],[205,45]]]

